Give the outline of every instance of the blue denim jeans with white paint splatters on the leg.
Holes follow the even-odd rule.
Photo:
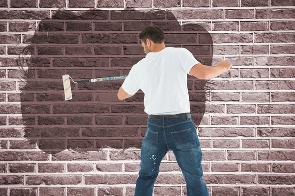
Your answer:
[[[184,113],[189,114],[189,113]],[[186,118],[148,118],[134,196],[152,196],[161,160],[171,149],[186,182],[187,196],[209,196],[202,180],[202,151],[195,123]],[[168,180],[167,180],[168,181]]]

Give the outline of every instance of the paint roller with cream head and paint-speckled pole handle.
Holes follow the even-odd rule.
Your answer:
[[[121,76],[114,76],[114,77],[84,79],[84,80],[79,80],[75,82],[69,74],[62,75],[64,98],[65,100],[70,100],[73,98],[70,78],[73,80],[74,83],[87,83],[87,82],[99,82],[99,81],[105,81],[105,80],[123,79],[123,78],[126,78],[127,76],[128,75],[121,75]]]

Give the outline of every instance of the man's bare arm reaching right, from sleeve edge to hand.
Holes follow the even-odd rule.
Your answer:
[[[215,67],[198,63],[191,68],[189,74],[199,79],[212,79],[231,68],[232,64],[229,61],[221,61]]]

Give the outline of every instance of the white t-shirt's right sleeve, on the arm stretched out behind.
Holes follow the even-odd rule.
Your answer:
[[[180,48],[179,54],[181,67],[186,74],[189,74],[194,65],[200,63],[188,49]]]

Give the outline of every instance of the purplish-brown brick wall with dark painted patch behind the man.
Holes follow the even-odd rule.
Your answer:
[[[128,75],[147,25],[166,47],[234,66],[187,79],[210,196],[294,196],[294,18],[294,0],[0,0],[0,196],[134,195],[143,92],[71,82],[65,101],[61,78]],[[154,191],[186,196],[171,150]]]

